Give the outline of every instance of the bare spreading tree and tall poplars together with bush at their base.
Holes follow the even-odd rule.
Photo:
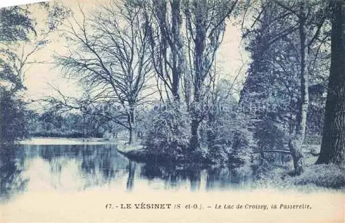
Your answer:
[[[230,94],[213,94],[219,76],[215,56],[236,3],[113,1],[91,17],[81,9],[83,22],[72,19],[61,30],[78,47],[57,61],[66,76],[82,81],[89,103],[119,105],[119,116],[106,115],[128,128],[129,143],[135,142],[136,123],[144,111],[150,117],[145,143],[155,153],[177,157],[216,147],[219,136],[211,136],[210,125],[220,119],[213,113],[219,97]],[[151,95],[162,105],[157,111],[147,108]],[[208,125],[212,142],[201,145],[201,125]]]

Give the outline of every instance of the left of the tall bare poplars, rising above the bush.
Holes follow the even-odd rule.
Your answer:
[[[181,16],[181,0],[161,1],[155,0],[152,3],[155,8],[155,19],[157,21],[159,47],[155,49],[155,40],[152,39],[152,62],[159,78],[164,81],[172,100],[180,100],[180,81],[184,73],[184,41],[181,36],[183,19]],[[147,18],[148,19],[148,18]],[[149,22],[151,23],[151,22]],[[155,32],[154,31],[154,32]],[[152,35],[152,33],[151,33]]]

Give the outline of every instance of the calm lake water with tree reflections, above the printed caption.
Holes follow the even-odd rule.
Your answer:
[[[157,166],[121,155],[115,144],[20,145],[0,155],[0,200],[30,193],[219,191],[250,187],[249,169]]]

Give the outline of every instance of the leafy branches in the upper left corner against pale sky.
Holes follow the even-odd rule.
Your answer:
[[[39,4],[43,10],[48,10],[48,28],[37,29],[37,21],[32,17],[30,6],[13,6],[0,9],[0,81],[5,83],[13,93],[23,91],[24,76],[28,66],[35,61],[32,55],[43,49],[50,41],[48,35],[57,28],[63,19],[68,17],[68,11],[56,3],[50,8],[48,3]],[[51,13],[58,13],[52,18]],[[50,24],[54,23],[54,24]],[[47,30],[48,29],[48,30]],[[1,84],[3,84],[1,83]]]

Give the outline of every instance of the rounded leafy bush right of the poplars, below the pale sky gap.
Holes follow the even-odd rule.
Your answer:
[[[233,84],[220,80],[206,96],[206,105],[200,109],[199,136],[204,157],[216,164],[248,163],[255,147],[253,133],[248,131],[248,116],[242,113],[230,94]]]

